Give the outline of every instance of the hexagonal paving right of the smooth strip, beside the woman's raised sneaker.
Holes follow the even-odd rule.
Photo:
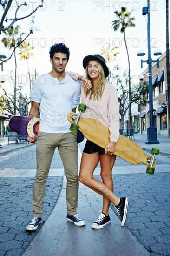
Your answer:
[[[152,256],[170,255],[170,173],[113,175],[113,180],[114,193],[129,198],[126,227]]]

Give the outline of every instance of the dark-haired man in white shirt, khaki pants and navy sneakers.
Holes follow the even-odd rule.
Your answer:
[[[35,80],[31,90],[32,105],[30,117],[39,116],[40,126],[37,137],[28,137],[30,143],[37,141],[37,172],[33,184],[33,218],[26,230],[36,230],[42,222],[42,210],[46,189],[46,179],[55,148],[58,147],[62,159],[66,186],[67,221],[77,226],[85,225],[78,216],[78,146],[77,135],[70,132],[67,114],[76,112],[80,100],[80,83],[65,73],[70,52],[64,43],[50,47],[52,71]],[[84,80],[87,85],[87,80]],[[85,82],[86,81],[86,82]]]

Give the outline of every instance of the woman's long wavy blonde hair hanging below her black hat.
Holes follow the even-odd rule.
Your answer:
[[[94,60],[94,61],[96,61],[96,60]],[[93,94],[93,101],[95,101],[96,99],[98,101],[102,97],[104,89],[105,89],[105,73],[104,73],[102,65],[98,61],[96,61],[96,62],[97,62],[98,70],[99,70],[100,74],[99,74],[99,78],[98,78],[97,89],[94,93],[93,93],[93,89],[94,89],[93,82],[88,74],[89,63],[87,64],[87,67],[85,69],[86,78],[88,80],[91,80],[91,82],[92,82],[92,88],[90,88],[90,90],[85,89],[85,98],[90,94],[90,99],[92,99],[92,94]]]

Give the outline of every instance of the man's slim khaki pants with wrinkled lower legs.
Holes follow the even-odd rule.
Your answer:
[[[46,179],[55,148],[62,159],[66,186],[67,214],[77,213],[78,207],[78,146],[77,134],[50,134],[39,132],[37,136],[37,172],[33,183],[33,216],[41,217],[46,190]]]

